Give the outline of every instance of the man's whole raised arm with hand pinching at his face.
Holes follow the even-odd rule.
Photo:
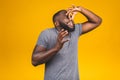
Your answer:
[[[102,22],[102,19],[91,12],[88,9],[85,9],[81,6],[73,6],[73,8],[69,8],[67,14],[73,13],[72,19],[74,18],[76,12],[82,13],[88,20],[84,23],[82,23],[82,34],[87,33],[93,29],[95,29],[97,26],[99,26]],[[69,15],[70,16],[70,15]],[[71,17],[71,16],[70,16]]]

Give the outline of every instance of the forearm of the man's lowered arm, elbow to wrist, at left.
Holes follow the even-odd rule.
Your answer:
[[[32,64],[34,66],[37,66],[39,64],[42,63],[46,63],[47,61],[49,61],[59,50],[57,50],[56,48],[52,48],[50,50],[47,51],[39,51],[36,52],[35,54],[33,54],[32,56]]]

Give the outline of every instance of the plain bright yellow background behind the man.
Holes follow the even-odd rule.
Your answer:
[[[71,4],[103,19],[79,39],[80,79],[120,80],[119,0],[0,0],[0,80],[43,80],[44,65],[31,65],[33,48],[39,33],[53,27],[53,14]],[[85,20],[75,17],[76,23]]]

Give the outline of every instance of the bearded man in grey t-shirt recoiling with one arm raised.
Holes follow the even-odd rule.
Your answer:
[[[74,24],[79,12],[88,21]],[[45,63],[45,80],[79,80],[77,42],[78,37],[101,24],[101,18],[93,12],[73,6],[60,10],[53,16],[55,28],[41,32],[32,55],[34,66]]]

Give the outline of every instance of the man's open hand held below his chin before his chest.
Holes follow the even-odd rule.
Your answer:
[[[55,49],[60,50],[62,48],[63,44],[65,42],[69,41],[69,39],[64,38],[67,35],[68,35],[67,30],[62,29],[59,32],[58,37],[57,37],[57,42],[56,42],[56,45],[55,45]]]

